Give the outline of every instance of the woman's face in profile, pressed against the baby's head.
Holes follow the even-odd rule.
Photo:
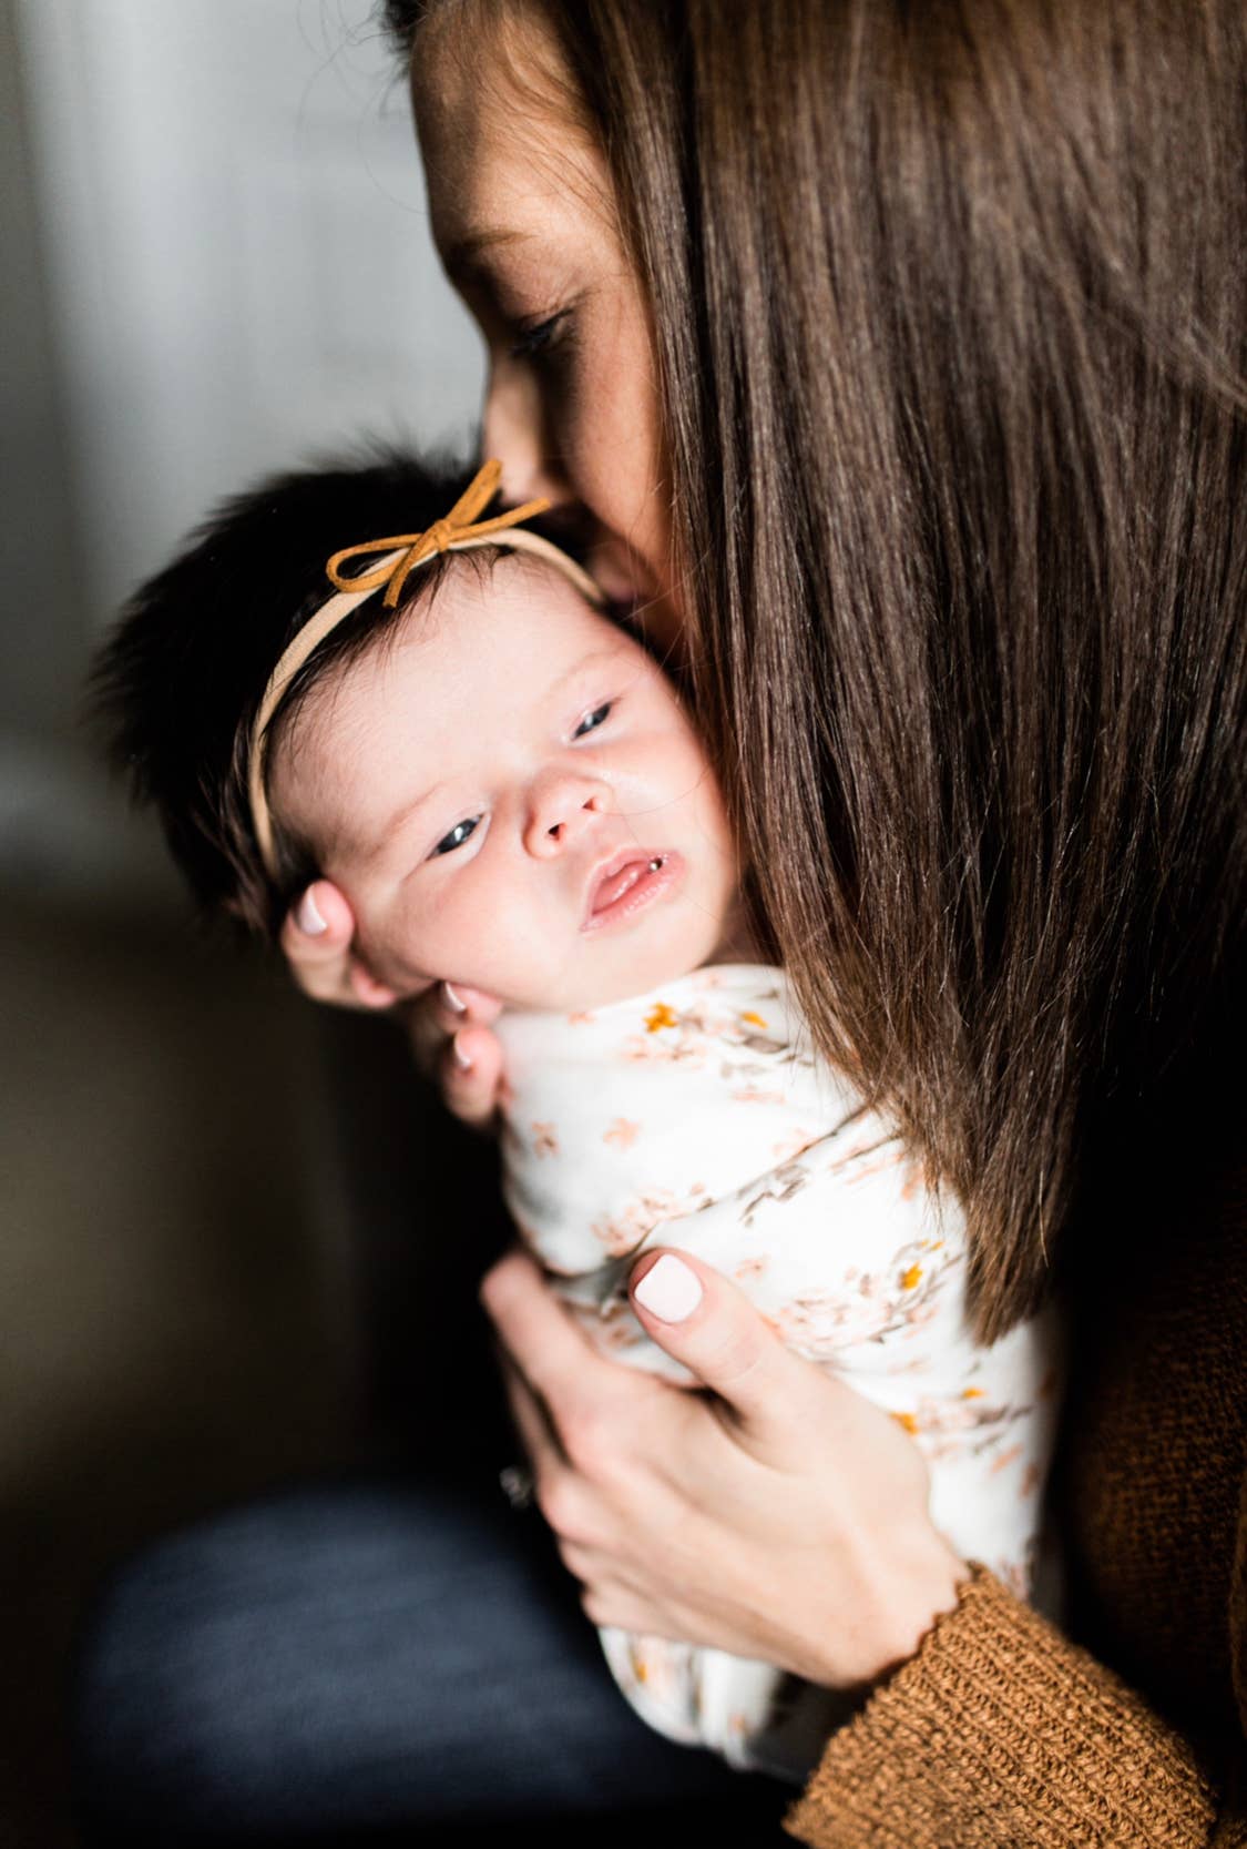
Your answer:
[[[669,512],[648,314],[604,161],[560,116],[552,50],[460,11],[421,37],[412,92],[432,233],[480,327],[486,455],[508,501],[587,516],[589,568],[671,645]]]

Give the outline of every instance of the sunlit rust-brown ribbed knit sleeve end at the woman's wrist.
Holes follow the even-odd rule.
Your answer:
[[[1214,1818],[1182,1736],[975,1568],[785,1829],[818,1849],[1193,1849]]]

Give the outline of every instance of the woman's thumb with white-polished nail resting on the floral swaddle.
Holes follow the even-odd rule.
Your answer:
[[[687,1252],[647,1252],[628,1281],[647,1335],[748,1424],[785,1424],[802,1366],[733,1283]],[[781,1402],[781,1403],[780,1403]]]

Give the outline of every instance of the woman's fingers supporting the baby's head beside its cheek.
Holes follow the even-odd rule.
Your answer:
[[[447,1109],[466,1124],[486,1124],[499,1102],[502,1048],[490,1032],[502,1004],[478,989],[430,984],[421,995],[399,997],[379,982],[355,949],[355,915],[333,880],[314,880],[290,908],[281,949],[294,980],[314,1002],[338,1008],[403,1006],[416,1058],[436,1071]]]

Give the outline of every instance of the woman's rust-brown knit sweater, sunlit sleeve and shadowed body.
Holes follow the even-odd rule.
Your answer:
[[[1162,1218],[1077,1296],[1070,1638],[975,1572],[833,1736],[802,1842],[1247,1845],[1247,1189]]]

